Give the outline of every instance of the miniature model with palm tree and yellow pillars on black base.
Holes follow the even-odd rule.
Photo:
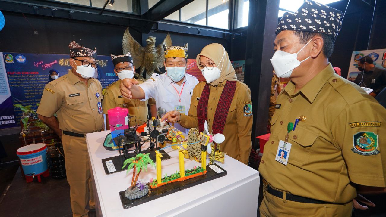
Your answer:
[[[215,178],[222,177],[227,174],[225,170],[223,170],[218,165],[212,164],[207,167],[207,153],[209,156],[215,150],[211,147],[212,142],[214,141],[216,144],[220,144],[225,140],[225,137],[222,134],[216,134],[214,136],[209,135],[207,130],[207,124],[205,123],[205,131],[204,133],[200,133],[200,137],[198,137],[196,129],[190,130],[190,136],[193,139],[188,139],[188,141],[193,141],[191,143],[182,143],[165,146],[159,150],[155,150],[156,153],[156,179],[149,180],[148,183],[137,183],[137,178],[139,172],[141,170],[146,170],[147,164],[150,163],[154,165],[152,160],[149,160],[148,154],[140,155],[138,154],[135,158],[130,158],[125,160],[124,167],[127,163],[130,163],[128,167],[128,171],[133,168],[133,180],[130,188],[125,191],[120,192],[120,198],[122,201],[122,205],[124,209],[130,208],[132,206],[142,204],[144,202],[148,202],[150,200],[154,200],[159,197],[163,197],[170,193],[177,192],[179,190],[193,187],[200,183],[208,182]],[[194,137],[195,136],[195,137]],[[191,158],[189,154],[189,147],[194,145],[194,151],[192,153],[193,159],[201,160],[201,167],[193,167],[191,169],[185,169],[185,158]],[[172,175],[165,174],[162,176],[162,167],[161,167],[161,158],[164,153],[160,151],[173,147],[176,151],[178,151],[178,159],[179,159],[179,172]],[[193,146],[191,146],[193,148]],[[214,155],[213,155],[214,157]],[[123,167],[123,168],[124,168]],[[134,168],[136,167],[136,168]],[[137,174],[137,177],[135,177]]]

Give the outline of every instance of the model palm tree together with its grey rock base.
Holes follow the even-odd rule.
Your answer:
[[[145,170],[145,172],[147,172],[148,163],[150,163],[150,165],[153,167],[156,166],[154,164],[154,161],[150,159],[149,154],[150,153],[137,154],[134,158],[129,158],[124,161],[124,165],[122,169],[125,168],[125,166],[128,163],[130,164],[129,164],[129,167],[127,167],[127,172],[133,169],[133,177],[131,179],[131,185],[125,191],[125,196],[130,200],[133,200],[135,198],[141,198],[147,195],[147,193],[149,192],[149,187],[146,184],[137,182],[139,173],[141,173],[142,170]]]

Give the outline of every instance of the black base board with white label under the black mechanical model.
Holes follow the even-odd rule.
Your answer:
[[[159,149],[161,149],[161,148],[157,148],[157,150],[159,150]],[[156,152],[154,150],[151,151],[150,149],[149,149],[149,151],[150,151],[150,155],[149,155],[150,159],[153,160],[154,163],[156,163]],[[168,155],[164,150],[159,151],[159,153],[162,154],[161,161],[168,160],[168,159],[171,158],[171,156]],[[144,154],[147,154],[147,153],[144,153]],[[134,152],[133,153],[129,153],[129,158],[135,157],[135,155],[136,154]],[[122,160],[121,160],[121,158],[122,158]],[[109,160],[113,161],[114,167],[115,167],[115,169],[117,171],[111,172],[111,173],[108,172],[106,161],[109,161]],[[113,156],[111,158],[102,159],[102,164],[103,164],[103,168],[105,169],[106,175],[126,170],[127,167],[129,167],[129,164],[127,164],[126,167],[124,169],[122,169],[122,164],[123,164],[123,161],[125,161],[125,160],[126,159],[125,159],[125,156],[123,154],[122,155],[118,155],[118,156]]]

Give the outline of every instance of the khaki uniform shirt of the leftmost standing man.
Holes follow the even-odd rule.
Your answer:
[[[64,131],[100,131],[103,115],[98,111],[98,102],[103,98],[102,85],[94,78],[88,79],[87,85],[73,72],[49,82],[44,88],[37,113],[45,117],[52,117],[56,113],[59,128]]]

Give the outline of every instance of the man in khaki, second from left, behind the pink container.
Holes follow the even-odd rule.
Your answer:
[[[110,86],[103,90],[102,108],[103,114],[106,114],[106,128],[107,130],[110,130],[107,111],[115,107],[129,109],[129,114],[132,116],[129,126],[142,125],[147,121],[147,104],[150,105],[152,111],[156,111],[156,103],[153,98],[146,101],[124,98],[119,91],[119,85],[123,79],[132,79],[134,77],[135,66],[133,65],[133,58],[130,56],[130,53],[127,53],[126,55],[120,56],[114,56],[111,54],[111,59],[114,64],[115,75],[118,76],[119,80],[113,82]],[[139,84],[144,83],[144,81],[141,80],[137,81]]]

